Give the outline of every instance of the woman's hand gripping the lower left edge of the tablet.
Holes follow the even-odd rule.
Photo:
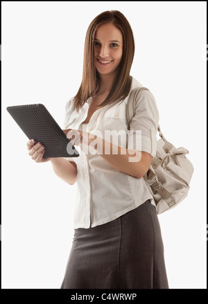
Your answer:
[[[36,163],[46,163],[46,161],[50,161],[52,159],[52,157],[43,158],[45,150],[42,143],[38,142],[35,145],[33,145],[33,143],[35,143],[34,139],[28,141],[27,148],[29,150],[28,154]]]

